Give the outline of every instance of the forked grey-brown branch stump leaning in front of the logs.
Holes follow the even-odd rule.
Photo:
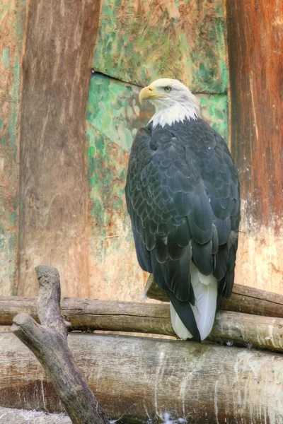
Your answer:
[[[35,272],[40,285],[37,314],[42,325],[21,313],[13,319],[11,330],[35,354],[52,379],[73,424],[109,424],[67,345],[67,326],[60,310],[59,273],[52,266],[37,266]]]

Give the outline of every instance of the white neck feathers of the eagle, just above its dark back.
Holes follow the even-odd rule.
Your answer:
[[[190,121],[190,119],[197,119],[198,117],[200,117],[200,109],[196,100],[192,104],[175,103],[175,105],[157,109],[149,123],[152,122],[153,128],[158,124],[163,127],[172,125],[175,122],[184,122],[185,119]]]

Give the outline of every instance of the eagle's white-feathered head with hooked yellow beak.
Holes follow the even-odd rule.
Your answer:
[[[156,109],[149,122],[154,126],[172,125],[200,117],[200,106],[190,90],[178,80],[161,78],[141,89],[139,102],[149,100]]]

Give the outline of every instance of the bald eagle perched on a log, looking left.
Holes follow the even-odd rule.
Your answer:
[[[238,172],[224,139],[180,81],[142,88],[156,113],[129,158],[127,210],[141,269],[168,292],[183,339],[206,338],[218,295],[231,295],[240,223]]]

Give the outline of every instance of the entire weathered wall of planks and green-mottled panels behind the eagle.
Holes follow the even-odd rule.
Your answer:
[[[222,0],[103,0],[96,40],[76,4],[52,4],[0,0],[0,294],[36,295],[33,267],[46,263],[58,267],[64,295],[137,300],[146,276],[134,253],[124,187],[132,139],[152,113],[140,109],[139,88],[161,76],[180,78],[227,139],[226,9]],[[275,1],[258,5],[227,2],[231,148],[243,187],[236,282],[283,293],[279,112],[278,124],[275,113],[269,118],[272,134],[265,125],[270,110],[280,110],[282,23]],[[98,25],[98,13],[92,22]],[[255,44],[246,42],[252,33],[236,32],[240,22],[252,33],[255,26]],[[77,48],[88,49],[90,60],[80,61]],[[79,74],[83,93],[76,91]]]

